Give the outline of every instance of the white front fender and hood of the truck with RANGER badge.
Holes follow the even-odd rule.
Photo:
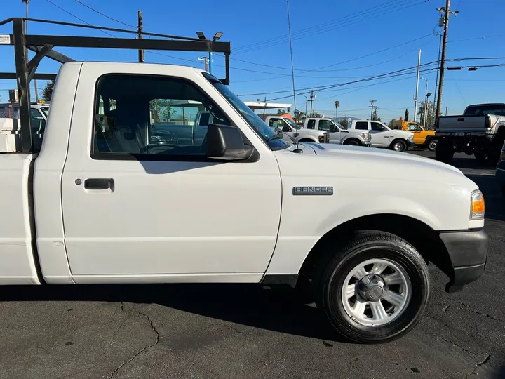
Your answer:
[[[433,230],[468,229],[471,192],[478,187],[457,168],[382,149],[310,148],[317,155],[274,153],[282,173],[283,214],[267,274],[299,272],[321,236],[365,215],[393,213]],[[334,195],[292,196],[297,186],[332,186]]]

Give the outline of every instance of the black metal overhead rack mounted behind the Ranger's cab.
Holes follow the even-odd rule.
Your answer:
[[[74,22],[61,22],[43,20],[39,18],[8,18],[0,21],[0,26],[12,23],[13,34],[0,34],[0,46],[14,46],[14,59],[16,72],[0,72],[0,79],[16,79],[20,102],[20,124],[22,152],[35,152],[30,126],[30,95],[29,82],[32,79],[55,79],[56,74],[36,74],[36,69],[45,57],[56,62],[73,62],[72,58],[53,50],[54,47],[83,47],[83,48],[126,48],[132,50],[168,50],[168,51],[213,51],[224,53],[226,77],[220,79],[224,84],[229,84],[229,55],[231,44],[229,42],[211,41],[169,34],[142,32],[142,36],[154,36],[158,39],[136,38],[102,38],[90,36],[58,36],[25,34],[25,21],[41,22],[52,25],[65,25],[82,27],[86,29],[107,30],[137,35],[138,32],[112,27],[96,25],[83,25]],[[36,54],[28,60],[27,50]]]

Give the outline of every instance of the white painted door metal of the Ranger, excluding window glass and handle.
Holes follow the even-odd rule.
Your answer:
[[[91,159],[95,83],[114,72],[193,81],[253,141],[259,161]],[[264,273],[281,217],[276,158],[201,72],[189,67],[86,62],[76,104],[61,185],[72,276],[223,274],[227,281],[229,274]],[[113,178],[114,191],[90,191],[75,184],[76,179],[86,178]]]

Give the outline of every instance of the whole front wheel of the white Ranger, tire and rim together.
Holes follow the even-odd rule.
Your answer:
[[[321,262],[316,305],[356,343],[384,343],[420,321],[430,292],[428,267],[400,237],[363,231],[330,262]]]

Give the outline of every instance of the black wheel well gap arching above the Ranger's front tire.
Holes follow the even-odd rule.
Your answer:
[[[438,232],[415,218],[395,214],[363,216],[333,228],[311,249],[299,275],[310,278],[316,263],[335,253],[339,246],[344,246],[357,230],[380,230],[396,234],[417,248],[426,262],[433,262],[448,277],[453,275],[449,254]]]

